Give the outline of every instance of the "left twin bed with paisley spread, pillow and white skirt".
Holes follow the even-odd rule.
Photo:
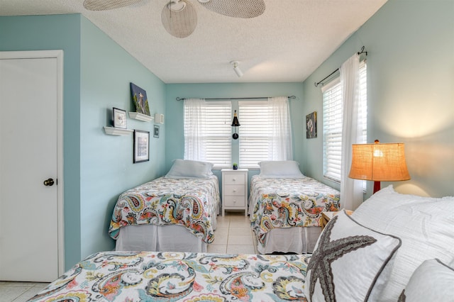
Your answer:
[[[109,227],[116,250],[206,252],[220,201],[211,167],[175,160],[165,177],[121,194]]]

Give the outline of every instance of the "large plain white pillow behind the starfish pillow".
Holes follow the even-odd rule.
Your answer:
[[[373,301],[397,301],[411,274],[426,259],[448,263],[454,258],[454,197],[431,198],[399,194],[387,186],[362,203],[352,214],[358,223],[399,237],[384,291],[372,293]]]

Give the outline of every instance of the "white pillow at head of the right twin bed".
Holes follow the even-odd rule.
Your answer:
[[[266,160],[259,162],[260,177],[265,178],[302,178],[299,163],[294,160]]]

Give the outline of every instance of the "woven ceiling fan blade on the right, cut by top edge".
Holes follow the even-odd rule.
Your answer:
[[[264,0],[199,0],[207,9],[234,18],[255,18],[265,11]]]

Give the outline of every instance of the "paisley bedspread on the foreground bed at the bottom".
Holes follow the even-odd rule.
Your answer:
[[[307,301],[307,255],[99,252],[30,301]]]

